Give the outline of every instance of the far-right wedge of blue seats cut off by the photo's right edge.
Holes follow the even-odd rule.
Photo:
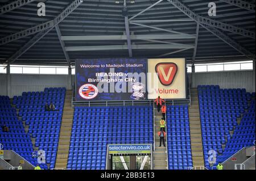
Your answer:
[[[232,138],[227,142],[223,154],[218,158],[224,162],[234,153],[246,146],[253,146],[255,141],[255,100],[251,101],[249,110],[243,114],[240,125],[234,130]]]

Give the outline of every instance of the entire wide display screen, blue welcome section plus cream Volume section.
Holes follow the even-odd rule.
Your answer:
[[[185,99],[185,58],[76,61],[76,100]]]

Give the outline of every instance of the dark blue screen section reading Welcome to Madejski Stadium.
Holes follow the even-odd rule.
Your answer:
[[[147,99],[146,58],[76,61],[76,100]]]

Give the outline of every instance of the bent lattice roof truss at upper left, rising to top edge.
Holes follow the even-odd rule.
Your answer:
[[[11,41],[21,39],[22,37],[26,37],[29,35],[33,35],[37,32],[47,30],[49,28],[55,27],[59,24],[63,19],[65,19],[71,12],[73,12],[78,6],[81,5],[83,0],[75,0],[73,1],[60,15],[58,15],[55,19],[50,20],[46,23],[39,24],[38,26],[34,26],[32,28],[28,28],[27,30],[20,31],[18,33],[14,33],[13,35],[3,37],[0,39],[0,45],[10,43]]]

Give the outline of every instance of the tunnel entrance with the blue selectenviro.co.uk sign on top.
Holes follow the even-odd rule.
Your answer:
[[[106,170],[152,170],[152,144],[108,145]]]

